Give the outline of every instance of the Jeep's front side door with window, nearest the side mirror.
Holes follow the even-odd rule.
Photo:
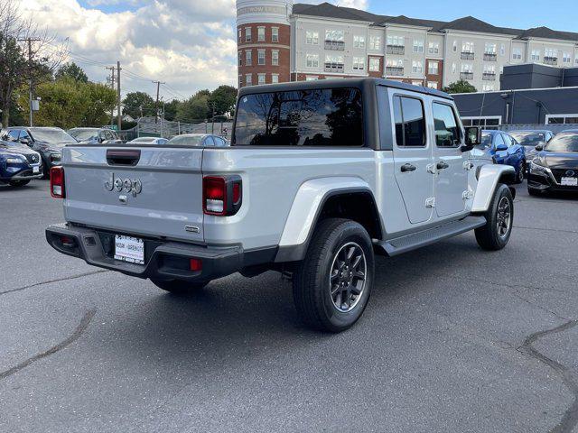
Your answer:
[[[464,192],[468,190],[469,166],[466,153],[461,152],[461,128],[451,105],[434,102],[433,128],[435,145],[435,209],[438,217],[459,214],[465,210]]]

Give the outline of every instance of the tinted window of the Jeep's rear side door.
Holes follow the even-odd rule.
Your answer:
[[[399,100],[399,103],[396,99]],[[420,147],[425,145],[424,103],[420,99],[394,97],[394,119],[398,146]]]

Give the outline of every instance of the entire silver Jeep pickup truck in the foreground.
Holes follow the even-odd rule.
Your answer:
[[[51,171],[66,223],[48,242],[87,263],[200,290],[234,272],[292,275],[304,321],[354,324],[374,256],[512,230],[512,167],[476,152],[452,97],[374,78],[243,88],[231,146],[70,145]],[[408,270],[409,271],[409,270]]]

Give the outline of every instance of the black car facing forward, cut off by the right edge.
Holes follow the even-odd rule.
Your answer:
[[[578,192],[578,130],[556,134],[545,146],[536,146],[536,151],[527,178],[527,191],[531,195]]]

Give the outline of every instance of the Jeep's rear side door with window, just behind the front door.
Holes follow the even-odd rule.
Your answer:
[[[392,97],[396,128],[394,170],[397,186],[411,224],[429,221],[433,214],[432,145],[428,140],[424,100],[405,95]]]

